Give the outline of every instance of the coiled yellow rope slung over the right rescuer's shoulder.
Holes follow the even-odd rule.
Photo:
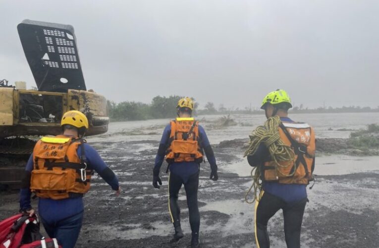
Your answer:
[[[244,153],[244,157],[254,154],[258,146],[263,142],[266,147],[269,149],[271,159],[273,161],[273,165],[275,166],[275,170],[277,173],[280,173],[278,167],[287,167],[279,164],[279,162],[283,161],[294,161],[295,153],[293,149],[284,144],[284,142],[280,139],[278,127],[281,123],[280,118],[278,116],[270,117],[264,125],[258,126],[253,132],[249,135],[250,142],[249,147]],[[289,165],[288,165],[289,166]],[[295,170],[292,174],[283,176],[293,176]],[[245,201],[247,203],[253,203],[255,200],[259,201],[259,192],[262,189],[262,179],[261,179],[262,168],[261,165],[254,167],[251,170],[251,177],[253,179],[253,184],[250,186],[249,190],[245,194]],[[248,200],[248,195],[250,191],[254,188],[254,199],[252,201]]]

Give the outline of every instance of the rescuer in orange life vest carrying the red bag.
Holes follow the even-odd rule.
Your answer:
[[[118,195],[120,186],[98,152],[83,140],[87,117],[66,112],[61,120],[63,135],[45,136],[34,147],[20,191],[20,211],[34,214],[31,192],[39,197],[38,212],[50,238],[63,248],[73,248],[83,221],[83,195],[95,170]]]

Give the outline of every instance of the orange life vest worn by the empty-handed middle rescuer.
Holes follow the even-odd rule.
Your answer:
[[[166,161],[201,163],[203,148],[199,136],[199,123],[194,118],[176,118],[171,121],[169,145],[166,151]]]

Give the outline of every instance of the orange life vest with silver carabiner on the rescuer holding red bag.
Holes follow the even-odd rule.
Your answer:
[[[55,200],[88,192],[92,171],[85,163],[83,142],[64,135],[41,138],[33,150],[31,191]],[[81,158],[77,155],[79,145]]]

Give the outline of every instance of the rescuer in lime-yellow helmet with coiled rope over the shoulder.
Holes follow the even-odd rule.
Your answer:
[[[275,133],[292,154],[292,160],[272,159],[266,144],[261,142],[253,154],[247,156],[251,166],[260,167],[262,188],[255,206],[255,238],[258,248],[269,248],[267,224],[279,210],[283,210],[284,234],[288,248],[300,248],[300,232],[305,205],[308,201],[306,186],[313,180],[315,166],[315,132],[306,123],[294,122],[287,116],[291,101],[284,90],[270,92],[261,109],[269,119],[280,118]],[[254,134],[254,132],[253,132]],[[253,135],[252,134],[252,135]],[[270,140],[270,137],[268,138]],[[270,146],[270,144],[267,144]],[[271,150],[272,152],[272,150]]]

